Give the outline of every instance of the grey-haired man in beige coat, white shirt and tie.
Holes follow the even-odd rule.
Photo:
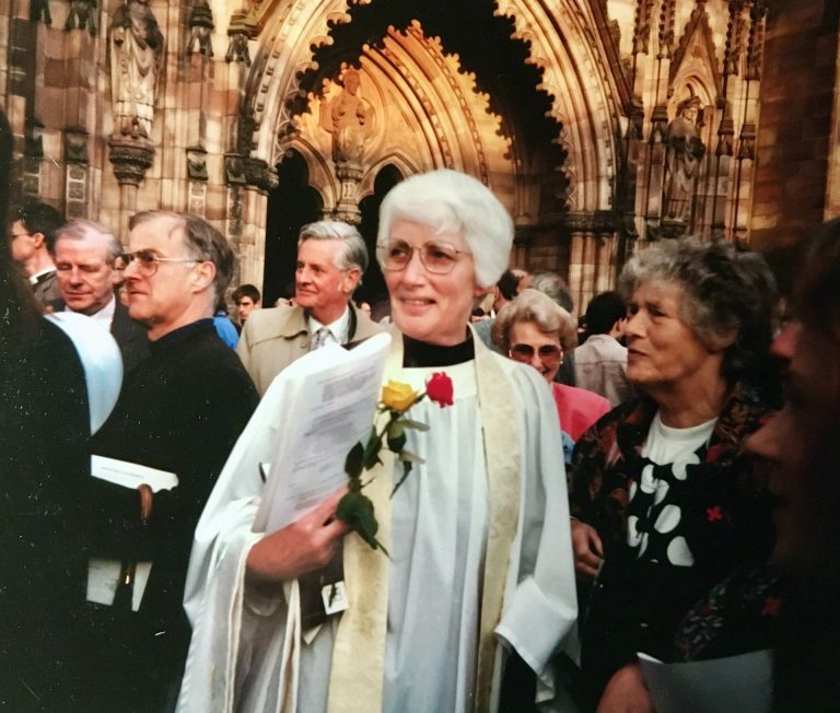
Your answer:
[[[301,229],[294,305],[253,312],[236,346],[260,395],[295,359],[327,341],[346,344],[383,330],[350,301],[366,268],[368,249],[352,225],[319,221]]]

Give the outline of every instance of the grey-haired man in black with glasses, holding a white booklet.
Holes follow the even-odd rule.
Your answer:
[[[166,711],[189,644],[182,598],[192,533],[258,397],[213,327],[233,274],[226,239],[200,218],[165,211],[138,213],[129,227],[120,268],[150,353],[125,379],[93,453],[174,474],[177,486],[91,479],[97,681],[88,710]]]

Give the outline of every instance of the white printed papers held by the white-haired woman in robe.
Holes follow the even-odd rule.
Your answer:
[[[389,348],[388,334],[352,350],[327,344],[272,382],[264,398],[281,396],[283,429],[273,447],[256,531],[285,527],[347,482],[345,460],[371,432]]]

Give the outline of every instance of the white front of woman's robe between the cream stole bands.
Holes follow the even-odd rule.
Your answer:
[[[435,371],[452,378],[455,404],[427,398],[411,408],[430,431],[409,431],[406,447],[424,463],[392,500],[383,710],[395,713],[469,711],[475,678],[489,505],[481,412],[474,362],[408,369],[401,377],[420,389]],[[400,463],[396,470],[395,483]]]

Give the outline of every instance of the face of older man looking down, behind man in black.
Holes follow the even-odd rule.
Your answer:
[[[73,312],[96,314],[114,299],[114,267],[108,241],[93,231],[84,238],[56,241],[56,273],[61,299]]]

